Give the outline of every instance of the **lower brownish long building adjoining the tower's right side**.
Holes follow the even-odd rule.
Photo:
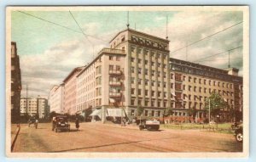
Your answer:
[[[229,118],[229,109],[242,111],[242,77],[237,69],[220,70],[179,59],[170,59],[170,68],[174,115],[188,116],[188,109],[195,108],[197,118],[206,117],[205,101],[212,92],[230,105],[221,111],[220,119]]]

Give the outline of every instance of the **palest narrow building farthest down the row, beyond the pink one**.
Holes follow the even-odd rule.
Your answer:
[[[49,110],[55,113],[64,113],[64,83],[54,86],[49,92]]]

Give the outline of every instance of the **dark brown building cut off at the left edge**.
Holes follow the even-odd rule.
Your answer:
[[[20,59],[16,42],[11,42],[11,122],[20,122]]]

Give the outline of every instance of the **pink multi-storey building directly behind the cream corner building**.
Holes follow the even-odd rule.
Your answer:
[[[65,78],[64,82],[64,109],[63,112],[69,115],[74,115],[76,113],[76,81],[77,75],[83,67],[75,68],[71,71],[69,75]]]

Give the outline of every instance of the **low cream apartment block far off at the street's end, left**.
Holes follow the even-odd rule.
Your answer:
[[[37,116],[44,118],[47,110],[48,100],[46,98],[20,98],[20,115]]]

